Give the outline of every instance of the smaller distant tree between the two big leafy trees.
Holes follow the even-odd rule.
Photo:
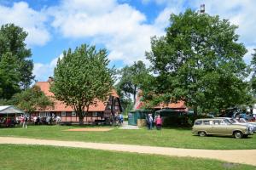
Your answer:
[[[141,86],[143,79],[147,77],[148,69],[143,61],[139,60],[134,62],[133,65],[126,65],[119,71],[120,80],[116,85],[118,93],[121,99],[130,99],[130,95],[133,96],[133,102],[136,101],[137,90]],[[128,101],[127,100],[127,101]]]

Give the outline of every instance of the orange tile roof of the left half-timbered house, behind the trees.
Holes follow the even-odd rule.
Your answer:
[[[41,90],[44,92],[44,94],[46,96],[51,97],[51,99],[55,103],[54,109],[48,108],[45,111],[73,111],[73,108],[71,106],[67,106],[63,102],[61,102],[59,100],[56,100],[56,99],[53,99],[54,94],[49,92],[49,86],[50,86],[49,82],[36,82],[36,86],[41,88]],[[111,95],[113,97],[119,98],[119,95],[116,93],[115,90],[112,91]],[[106,109],[106,102],[103,102],[103,101],[98,100],[98,99],[96,99],[96,100],[97,100],[96,105],[90,105],[89,106],[89,111],[105,111],[105,109]],[[40,111],[40,110],[38,110],[38,111]]]

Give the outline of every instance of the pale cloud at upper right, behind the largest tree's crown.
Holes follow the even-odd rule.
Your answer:
[[[165,15],[167,13],[165,11],[178,14],[185,8],[199,9],[201,4],[205,4],[207,14],[219,15],[220,19],[228,19],[231,24],[239,26],[236,30],[240,35],[239,41],[244,43],[248,50],[244,60],[248,64],[252,59],[252,49],[256,48],[256,20],[253,18],[256,16],[255,0],[151,0],[151,2],[166,6],[159,17]]]

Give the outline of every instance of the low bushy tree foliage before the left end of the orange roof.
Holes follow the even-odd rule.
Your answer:
[[[16,105],[20,110],[32,113],[37,110],[45,110],[47,107],[53,107],[54,103],[41,91],[38,86],[26,88],[19,94],[15,94],[9,100],[11,105]]]

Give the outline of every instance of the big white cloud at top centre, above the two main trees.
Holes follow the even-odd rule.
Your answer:
[[[67,0],[49,8],[48,13],[54,17],[52,26],[64,37],[90,37],[94,43],[108,49],[109,59],[121,59],[125,64],[145,60],[144,53],[150,50],[150,37],[162,35],[166,25],[160,20],[162,17],[153,25],[145,24],[145,14],[115,0],[96,0],[93,4]]]

